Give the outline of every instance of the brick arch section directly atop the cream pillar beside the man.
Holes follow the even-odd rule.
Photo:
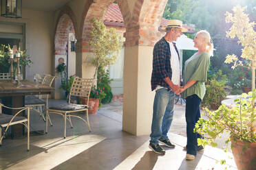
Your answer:
[[[153,46],[160,38],[158,32],[162,13],[168,0],[136,1],[133,16],[127,27],[126,46]]]

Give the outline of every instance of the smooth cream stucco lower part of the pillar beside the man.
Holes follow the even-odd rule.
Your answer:
[[[149,134],[153,115],[151,71],[153,47],[125,47],[122,130]]]

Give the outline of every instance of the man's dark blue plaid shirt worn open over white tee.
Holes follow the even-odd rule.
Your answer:
[[[173,46],[178,53],[178,49],[173,42]],[[178,57],[180,59],[179,53]],[[171,80],[171,51],[167,40],[164,37],[156,42],[153,47],[153,69],[151,75],[151,90],[155,90],[156,86],[162,86],[165,88],[170,88],[169,85],[164,82],[165,77],[169,77]],[[182,80],[182,79],[180,79]]]

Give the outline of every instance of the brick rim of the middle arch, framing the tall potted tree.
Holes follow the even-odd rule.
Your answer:
[[[91,23],[89,23],[90,19],[95,17],[96,19],[103,19],[105,11],[109,8],[109,5],[113,3],[113,0],[99,0],[99,1],[92,1],[90,0],[88,3],[85,4],[83,17],[81,21],[81,28],[80,28],[80,37],[81,37],[81,51],[82,52],[90,52],[89,49],[89,30],[91,27]],[[127,8],[127,0],[119,0],[118,6],[120,11],[122,12],[122,17],[124,19],[125,27],[127,27],[127,23],[130,20],[131,14],[129,9]]]

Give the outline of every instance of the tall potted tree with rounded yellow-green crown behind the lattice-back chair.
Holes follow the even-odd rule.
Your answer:
[[[107,96],[108,98],[111,98],[111,88],[109,86],[110,80],[108,78],[107,81],[103,81],[103,79],[106,80],[104,77],[106,67],[116,62],[116,58],[118,57],[124,40],[122,36],[116,32],[116,29],[106,29],[102,21],[93,18],[90,22],[92,23],[92,29],[90,32],[91,39],[89,40],[89,45],[92,47],[94,54],[92,64],[94,64],[96,68],[94,78],[97,79],[97,86],[94,86],[91,91],[96,89],[96,91],[103,90],[102,92],[98,91],[98,93],[103,94],[104,90],[106,90],[107,93],[101,95],[101,99],[99,99],[100,108],[104,97]],[[101,75],[101,73],[103,73],[103,75]],[[96,96],[91,94],[90,98],[94,99]]]

